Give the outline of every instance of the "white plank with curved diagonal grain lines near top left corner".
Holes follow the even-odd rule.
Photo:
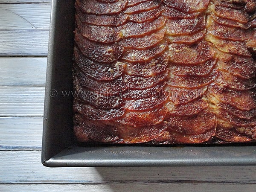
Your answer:
[[[49,29],[50,3],[0,4],[0,29]]]

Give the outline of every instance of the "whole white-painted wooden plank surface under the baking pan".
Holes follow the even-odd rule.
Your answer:
[[[50,0],[0,0],[0,192],[256,191],[256,166],[41,164]]]

